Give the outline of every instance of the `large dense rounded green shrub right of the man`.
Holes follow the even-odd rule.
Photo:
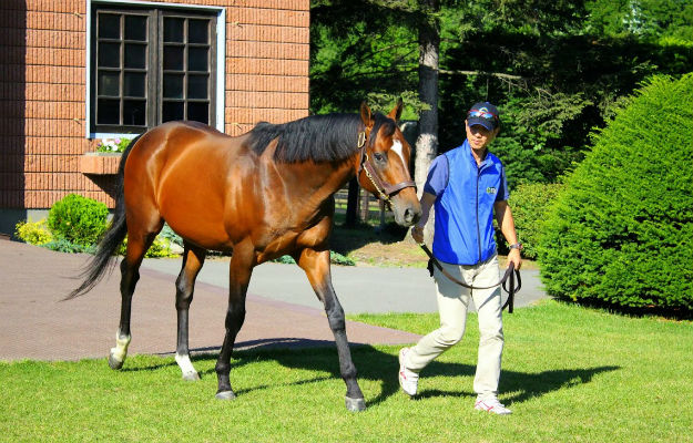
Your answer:
[[[540,239],[548,292],[693,311],[693,73],[651,79],[565,179]]]

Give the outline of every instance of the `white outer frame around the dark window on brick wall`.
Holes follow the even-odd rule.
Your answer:
[[[86,138],[134,138],[136,134],[120,134],[120,133],[102,133],[92,132],[91,126],[91,47],[92,47],[92,6],[118,6],[118,7],[151,7],[162,9],[185,9],[188,11],[204,11],[213,12],[216,14],[216,109],[214,127],[217,131],[224,132],[224,99],[225,99],[225,82],[226,78],[226,9],[223,7],[206,7],[198,4],[184,4],[184,3],[164,3],[154,1],[128,1],[128,0],[86,0],[86,62],[85,62],[85,137]]]

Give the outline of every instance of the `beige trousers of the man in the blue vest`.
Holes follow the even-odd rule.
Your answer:
[[[473,286],[495,285],[500,279],[498,256],[473,266],[440,262],[455,278]],[[440,313],[440,328],[421,338],[407,353],[405,365],[419,372],[434,359],[462,339],[467,323],[469,300],[473,300],[479,313],[479,354],[473,389],[479,399],[498,394],[500,362],[503,351],[503,326],[501,317],[500,287],[492,289],[467,289],[450,281],[437,268],[434,278]]]

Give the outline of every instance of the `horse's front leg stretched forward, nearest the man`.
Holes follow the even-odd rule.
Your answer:
[[[304,249],[298,258],[298,266],[306,272],[310,286],[313,286],[315,293],[325,306],[329,328],[335,336],[339,356],[339,371],[347,387],[346,408],[349,411],[363,411],[366,409],[366,401],[356,381],[356,367],[351,361],[351,352],[346,336],[344,309],[342,309],[342,305],[339,305],[335,289],[332,286],[329,250]]]

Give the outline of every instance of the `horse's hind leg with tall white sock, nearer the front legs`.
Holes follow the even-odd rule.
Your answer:
[[[183,268],[175,281],[175,309],[179,313],[179,338],[175,350],[175,361],[181,367],[184,380],[200,380],[200,375],[190,361],[187,347],[187,312],[193,301],[195,279],[206,256],[206,250],[185,243],[183,253]]]

